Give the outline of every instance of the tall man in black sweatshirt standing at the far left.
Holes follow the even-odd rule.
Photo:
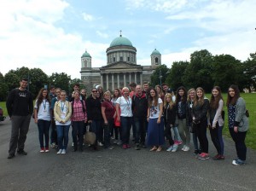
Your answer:
[[[15,152],[26,155],[24,143],[33,112],[33,100],[30,91],[26,90],[27,79],[20,80],[20,88],[11,90],[6,101],[9,117],[12,121],[8,159],[15,157]]]

